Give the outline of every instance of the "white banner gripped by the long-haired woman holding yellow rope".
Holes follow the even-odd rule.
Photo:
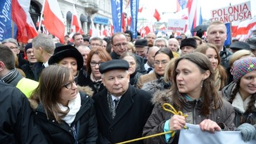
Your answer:
[[[188,126],[187,130],[182,129],[180,131],[179,143],[197,143],[197,144],[255,144],[256,140],[243,141],[241,139],[240,131],[216,131],[215,133],[209,133],[207,131],[202,131],[199,125],[192,125],[186,123]]]

